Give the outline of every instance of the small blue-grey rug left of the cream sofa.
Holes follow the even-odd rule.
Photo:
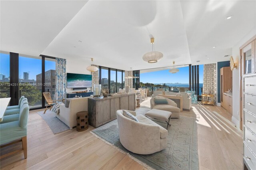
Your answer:
[[[38,115],[40,115],[44,119],[44,121],[46,121],[53,134],[69,130],[69,127],[65,123],[60,121],[60,119],[58,119],[56,117],[56,114],[52,111],[47,110],[45,114],[44,111],[40,111],[38,112]]]

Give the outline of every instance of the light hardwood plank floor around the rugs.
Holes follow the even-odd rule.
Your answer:
[[[3,158],[1,170],[146,169],[90,134],[93,127],[84,132],[73,129],[52,134],[36,112],[29,114],[28,158],[24,159],[23,152]],[[242,169],[242,131],[230,122],[231,115],[222,107],[210,105],[192,105],[190,112],[182,113],[189,114],[197,115],[199,169]],[[1,154],[21,147],[9,146],[1,149]]]

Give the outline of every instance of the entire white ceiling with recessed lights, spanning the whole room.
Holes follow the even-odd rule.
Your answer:
[[[0,49],[137,70],[229,60],[256,28],[255,0],[86,2],[1,0]],[[149,64],[152,36],[164,57]]]

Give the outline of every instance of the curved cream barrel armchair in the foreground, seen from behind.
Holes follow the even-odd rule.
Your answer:
[[[136,116],[136,112],[128,111]],[[168,131],[143,115],[137,115],[139,122],[116,111],[121,144],[136,154],[152,154],[167,147]]]

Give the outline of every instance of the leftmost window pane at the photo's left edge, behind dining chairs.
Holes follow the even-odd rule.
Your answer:
[[[10,54],[0,53],[0,98],[10,97]]]

